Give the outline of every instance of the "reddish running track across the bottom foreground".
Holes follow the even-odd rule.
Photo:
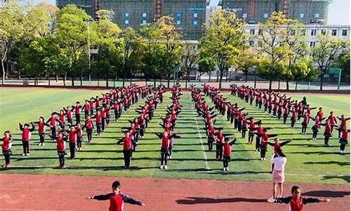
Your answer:
[[[270,204],[270,182],[85,177],[0,174],[0,210],[108,210],[109,201],[86,196],[108,193],[119,179],[122,192],[147,207],[127,204],[125,210],[286,210]],[[285,184],[289,196],[293,184]],[[350,210],[350,184],[299,184],[305,196],[328,197],[330,203],[305,205],[304,210]]]

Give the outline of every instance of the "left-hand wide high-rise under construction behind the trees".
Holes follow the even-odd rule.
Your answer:
[[[114,11],[119,27],[139,30],[161,16],[171,15],[183,39],[197,40],[205,23],[209,0],[56,0],[58,8],[76,4],[95,19],[98,8]]]

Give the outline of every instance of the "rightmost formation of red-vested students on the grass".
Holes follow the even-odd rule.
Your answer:
[[[329,115],[325,116],[322,107],[319,107],[316,115],[312,116],[311,111],[317,108],[310,107],[305,97],[303,97],[302,101],[294,101],[291,97],[288,98],[285,94],[282,95],[279,92],[253,89],[244,85],[239,87],[236,84],[232,84],[231,94],[238,96],[251,105],[255,100],[256,107],[261,109],[263,106],[265,113],[268,113],[268,115],[272,113],[278,120],[281,120],[283,115],[284,124],[286,124],[286,120],[290,117],[291,127],[295,126],[296,121],[300,121],[302,125],[301,134],[303,135],[307,134],[306,131],[310,120],[313,120],[312,140],[317,140],[319,129],[324,127],[325,146],[329,146],[329,139],[333,136],[333,129],[336,128],[340,143],[340,154],[345,154],[345,146],[347,145],[350,133],[350,129],[347,129],[347,120],[350,120],[350,117],[345,117],[345,115],[337,117],[333,114],[333,111],[330,111]],[[324,120],[325,122],[323,123]],[[340,121],[339,125],[338,121]]]

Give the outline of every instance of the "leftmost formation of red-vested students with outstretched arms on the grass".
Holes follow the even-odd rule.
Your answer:
[[[46,127],[50,127],[49,136],[56,142],[60,163],[59,168],[65,168],[66,141],[69,142],[69,158],[74,159],[76,151],[81,151],[84,129],[86,130],[87,143],[91,143],[95,127],[96,136],[100,136],[104,132],[105,127],[110,124],[112,110],[114,111],[114,120],[117,121],[121,117],[122,110],[128,110],[131,105],[138,103],[139,98],[145,98],[151,93],[151,85],[138,87],[132,84],[125,88],[117,87],[110,90],[110,92],[102,94],[101,97],[91,97],[85,101],[83,106],[79,101],[74,106],[63,106],[59,113],[51,113],[51,117],[46,121],[41,116],[37,122],[19,123],[22,132],[22,155],[30,155],[31,134],[36,128],[39,134],[39,146],[45,146]],[[84,111],[84,122],[81,122],[82,111]],[[75,124],[73,114],[75,116]],[[143,120],[143,117],[140,117],[141,120]],[[11,167],[10,158],[13,143],[11,132],[4,132],[4,137],[1,140],[1,148],[5,157],[3,167]]]

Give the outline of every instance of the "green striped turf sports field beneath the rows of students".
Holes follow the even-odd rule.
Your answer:
[[[197,117],[194,105],[191,102],[190,92],[185,91],[180,96],[180,104],[183,111],[176,122],[175,132],[181,139],[175,140],[172,159],[168,162],[168,170],[159,170],[160,164],[160,140],[154,132],[162,132],[159,126],[161,119],[166,114],[166,106],[171,103],[169,92],[165,95],[164,102],[157,106],[155,116],[147,128],[144,139],[138,142],[138,148],[133,153],[131,170],[124,170],[122,146],[114,146],[117,139],[121,138],[121,127],[129,125],[128,120],[137,117],[134,109],[143,104],[143,101],[133,105],[126,113],[122,113],[121,119],[112,123],[105,129],[102,136],[93,136],[93,143],[83,143],[83,151],[76,154],[74,160],[66,160],[67,169],[59,170],[58,155],[55,143],[46,136],[46,145],[37,146],[39,136],[37,131],[32,134],[31,154],[22,156],[22,143],[18,122],[37,121],[39,116],[46,119],[53,111],[59,111],[62,106],[71,106],[75,101],[83,102],[90,96],[100,95],[100,91],[69,90],[69,89],[39,89],[39,90],[0,90],[0,131],[10,129],[13,138],[13,155],[9,169],[0,169],[1,173],[25,173],[25,174],[79,174],[95,176],[119,176],[119,177],[163,177],[179,179],[225,179],[225,180],[252,180],[270,181],[271,174],[268,158],[272,148],[268,149],[266,161],[260,161],[260,155],[254,151],[253,145],[247,145],[246,139],[238,139],[233,147],[230,172],[222,171],[222,162],[216,161],[216,152],[208,153],[206,132],[200,117]],[[300,122],[296,122],[296,128],[291,129],[289,124],[282,124],[272,115],[263,113],[258,108],[249,106],[240,98],[224,93],[227,101],[238,103],[239,107],[246,107],[249,116],[256,120],[263,120],[265,127],[273,127],[272,134],[279,134],[281,140],[293,139],[292,143],[284,146],[287,156],[286,181],[308,182],[324,184],[346,184],[350,182],[350,147],[347,146],[347,154],[340,155],[336,132],[330,140],[331,146],[324,147],[323,130],[319,131],[318,140],[310,141],[311,129],[307,129],[307,135],[300,134]],[[288,94],[288,96],[292,96]],[[301,99],[303,96],[294,95],[293,98]],[[334,114],[350,116],[350,96],[331,95],[307,95],[307,103],[312,107],[322,106],[324,115],[333,110]],[[211,100],[206,99],[211,105]],[[316,110],[312,110],[315,114]],[[112,115],[113,116],[113,115]],[[350,122],[348,122],[350,123]],[[233,133],[233,138],[240,135],[232,129],[230,122],[225,117],[218,115],[216,127],[224,127],[224,133]],[[47,129],[48,132],[48,129]],[[85,138],[84,133],[84,138]],[[85,140],[84,140],[85,141]],[[67,151],[67,150],[66,150]],[[69,153],[69,150],[67,151]],[[1,162],[4,158],[1,156]]]

